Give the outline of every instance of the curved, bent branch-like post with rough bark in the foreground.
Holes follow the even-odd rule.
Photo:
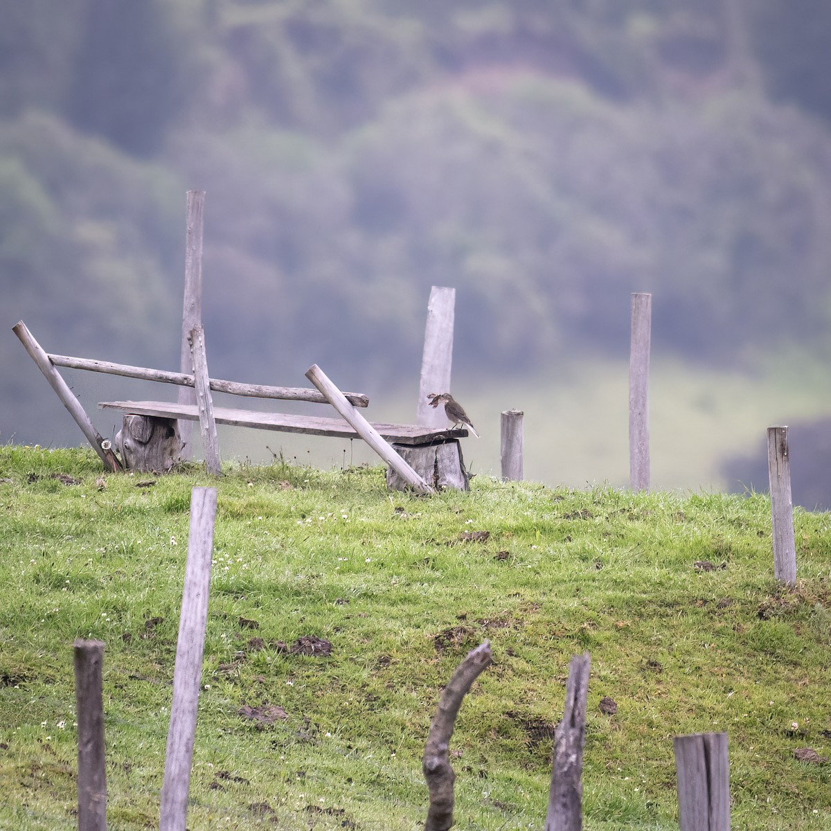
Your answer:
[[[447,831],[453,824],[453,785],[456,774],[448,761],[450,737],[453,735],[462,699],[491,661],[490,643],[485,641],[468,652],[441,694],[439,709],[430,725],[421,763],[430,790],[430,808],[427,810],[424,831]]]

